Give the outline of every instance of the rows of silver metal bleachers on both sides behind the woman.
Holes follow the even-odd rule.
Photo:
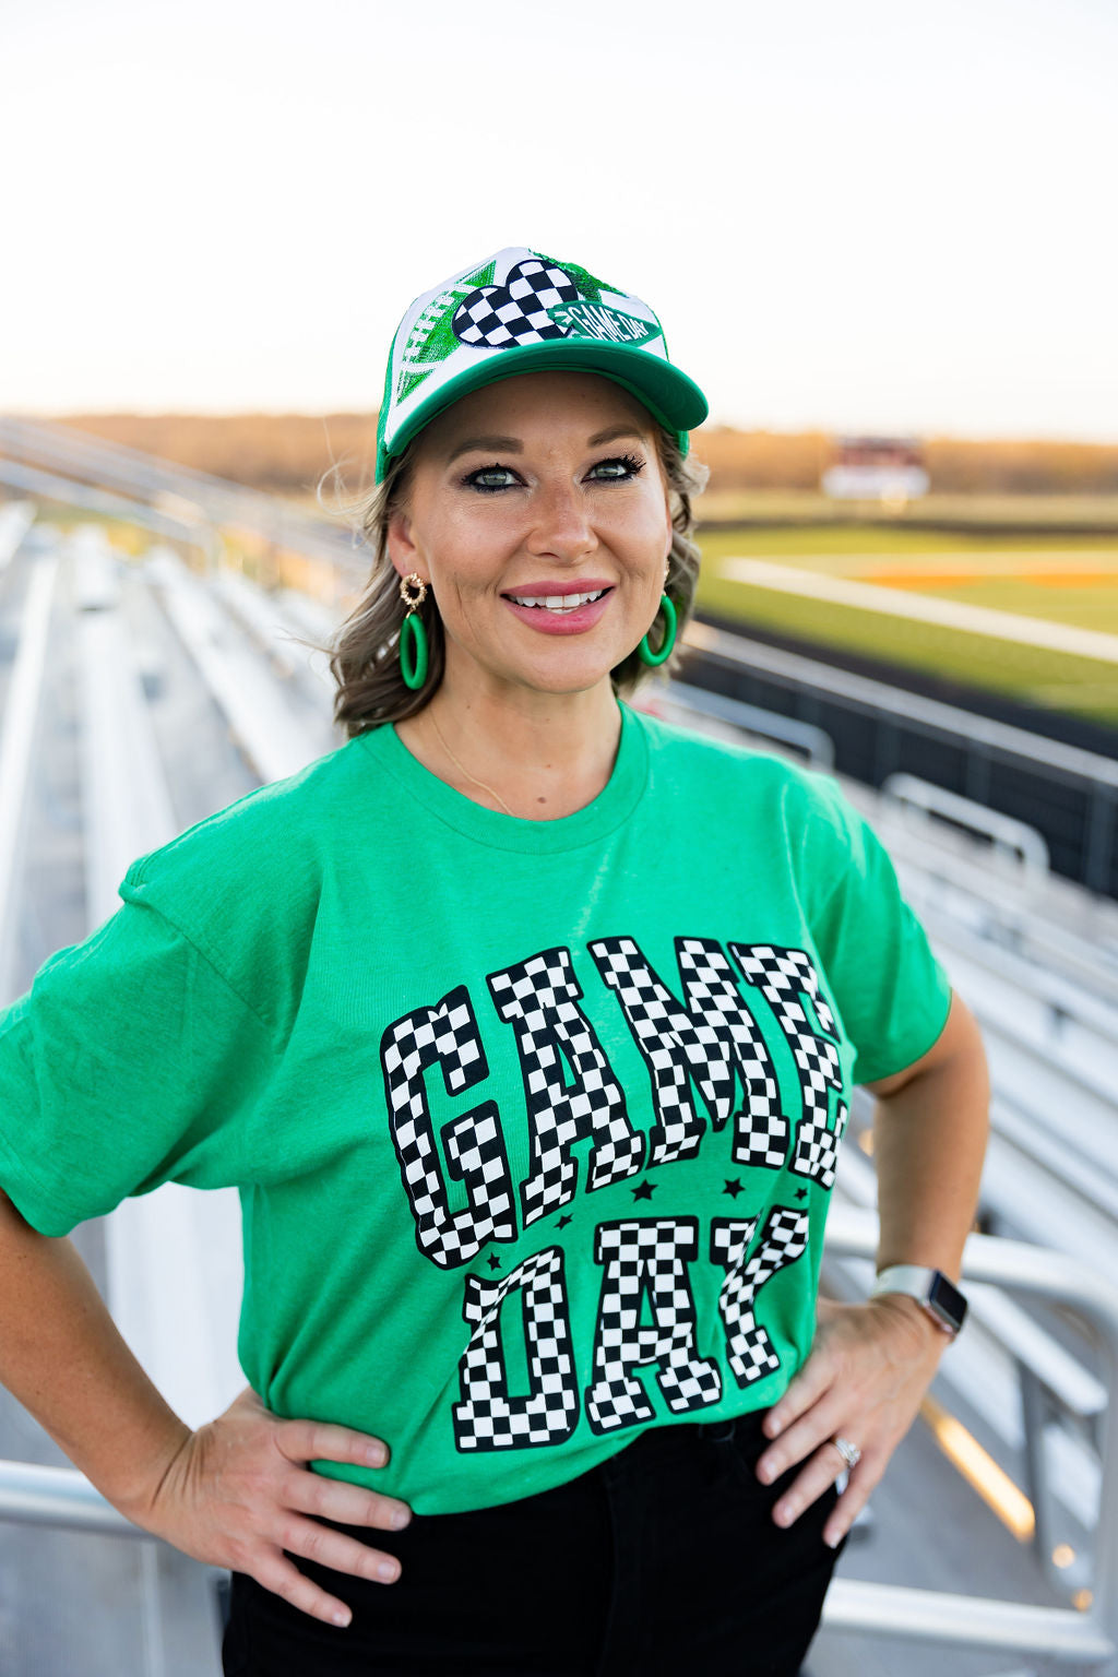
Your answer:
[[[75,470],[65,449],[44,461],[28,448],[8,471],[22,495],[28,475],[50,476],[39,518],[34,500],[0,506],[0,1005],[114,911],[132,857],[342,743],[323,662],[297,637],[340,615],[360,570],[349,540],[313,537],[337,567],[330,599],[263,589],[221,563],[218,490],[163,473],[159,525],[146,468],[111,451],[106,465],[99,446],[106,493],[151,532],[129,560],[102,525],[52,525]],[[183,522],[188,491],[201,511]],[[89,493],[80,483],[70,505]],[[298,550],[303,535],[285,523],[275,540]],[[650,704],[833,770],[818,719],[694,674]],[[895,773],[843,787],[982,1023],[994,1135],[967,1248],[972,1320],[855,1528],[810,1674],[1115,1674],[1118,902],[1053,874],[1027,820]],[[873,1268],[870,1107],[855,1097],[840,1155],[823,1269],[836,1298],[865,1296]],[[169,1402],[191,1424],[220,1412],[243,1384],[236,1197],[161,1189],[79,1246]],[[129,1528],[15,1410],[0,1405],[0,1669],[215,1677],[215,1575]],[[97,1602],[32,1625],[39,1575],[64,1563]]]

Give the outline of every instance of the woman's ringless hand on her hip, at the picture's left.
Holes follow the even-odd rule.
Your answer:
[[[248,1573],[312,1618],[347,1625],[345,1603],[283,1551],[392,1583],[394,1556],[318,1519],[392,1531],[411,1519],[407,1504],[307,1467],[308,1461],[384,1467],[387,1459],[380,1439],[318,1420],[280,1420],[246,1387],[223,1415],[186,1436],[146,1506],[124,1513],[194,1560]]]

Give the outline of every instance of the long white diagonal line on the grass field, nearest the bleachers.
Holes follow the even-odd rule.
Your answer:
[[[758,589],[801,594],[816,600],[833,600],[835,605],[882,612],[887,617],[917,619],[944,629],[964,629],[999,641],[1017,641],[1022,646],[1043,646],[1051,652],[1073,652],[1079,657],[1096,657],[1105,664],[1118,664],[1118,634],[1103,634],[1098,629],[1076,629],[1073,624],[1022,617],[1019,612],[996,612],[989,605],[967,605],[964,600],[935,600],[925,594],[898,595],[893,589],[880,589],[872,582],[850,582],[845,577],[798,570],[795,565],[771,565],[763,558],[724,558],[717,569],[719,575],[731,582],[749,582]]]

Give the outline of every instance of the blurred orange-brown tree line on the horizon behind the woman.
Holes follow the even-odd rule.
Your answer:
[[[375,414],[74,414],[60,423],[260,490],[312,495],[335,465],[347,495],[372,488]],[[826,431],[706,426],[692,448],[719,491],[818,490],[831,459]],[[925,438],[924,463],[940,495],[1118,495],[1116,443]]]

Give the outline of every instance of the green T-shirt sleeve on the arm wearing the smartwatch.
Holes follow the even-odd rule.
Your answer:
[[[831,998],[872,1083],[919,1060],[947,1023],[950,979],[905,902],[897,870],[838,783],[811,773],[805,854],[811,931]]]

